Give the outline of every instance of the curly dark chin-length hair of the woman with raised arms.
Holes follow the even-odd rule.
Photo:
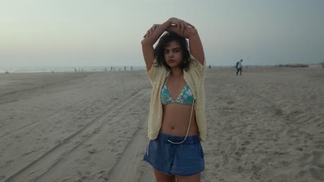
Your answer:
[[[188,48],[188,41],[185,38],[173,32],[165,32],[165,34],[163,34],[160,37],[159,43],[156,45],[154,49],[154,53],[156,56],[156,65],[154,66],[163,65],[168,70],[171,70],[168,63],[166,63],[164,57],[164,49],[168,45],[168,43],[170,43],[170,41],[177,41],[177,43],[180,44],[182,50],[182,57],[183,57],[183,61],[180,65],[180,68],[184,70],[188,70],[190,65],[190,53]]]

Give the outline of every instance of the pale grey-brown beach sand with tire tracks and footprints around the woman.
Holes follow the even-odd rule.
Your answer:
[[[201,181],[324,181],[324,69],[206,72]],[[0,74],[0,181],[154,181],[144,71]]]

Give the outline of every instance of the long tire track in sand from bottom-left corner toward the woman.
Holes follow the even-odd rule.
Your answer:
[[[82,143],[91,138],[91,136],[98,134],[98,130],[105,125],[111,125],[111,123],[117,122],[107,122],[107,118],[115,117],[118,110],[123,110],[129,103],[135,102],[138,97],[144,96],[149,90],[136,90],[129,94],[128,99],[121,101],[114,108],[103,112],[98,117],[93,119],[83,128],[75,132],[68,138],[64,139],[62,143],[55,145],[54,148],[40,156],[35,161],[32,161],[26,167],[22,168],[15,174],[9,176],[5,182],[9,181],[37,181],[40,177],[44,176],[46,172],[50,171],[55,165],[64,163],[64,159],[67,155],[73,153],[73,150],[78,148]],[[109,120],[108,120],[109,121]],[[107,126],[109,127],[109,126]]]

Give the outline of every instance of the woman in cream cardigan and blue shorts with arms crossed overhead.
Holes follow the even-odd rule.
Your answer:
[[[141,43],[153,87],[144,160],[154,168],[158,182],[200,181],[205,165],[200,141],[206,140],[206,62],[197,29],[170,18],[147,30]]]

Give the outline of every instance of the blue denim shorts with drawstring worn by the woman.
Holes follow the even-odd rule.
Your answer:
[[[204,170],[204,152],[201,148],[199,135],[172,136],[160,132],[155,140],[151,140],[144,154],[144,161],[150,163],[154,169],[168,175],[191,176]],[[148,150],[148,154],[147,154]]]

